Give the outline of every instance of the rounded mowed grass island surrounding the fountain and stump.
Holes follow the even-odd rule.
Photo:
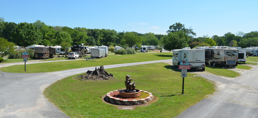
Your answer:
[[[143,64],[105,69],[116,79],[107,81],[80,81],[66,77],[46,88],[44,95],[67,116],[72,118],[168,118],[180,115],[187,108],[212,94],[214,85],[202,77],[188,73],[182,95],[182,77],[175,67],[165,63]],[[106,93],[125,88],[125,75],[131,75],[136,89],[151,92],[154,103],[134,110],[119,110],[105,103]],[[125,106],[130,107],[130,106]]]

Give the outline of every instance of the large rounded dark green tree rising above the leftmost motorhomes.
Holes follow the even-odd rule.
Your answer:
[[[29,46],[40,44],[42,34],[39,29],[32,23],[19,23],[15,30],[12,31],[12,41],[19,46]]]

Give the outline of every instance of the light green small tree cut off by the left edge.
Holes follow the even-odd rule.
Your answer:
[[[14,52],[15,44],[12,42],[8,42],[7,39],[0,37],[0,57],[5,57],[7,54],[11,54]]]

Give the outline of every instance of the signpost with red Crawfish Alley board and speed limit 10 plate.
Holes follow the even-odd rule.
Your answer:
[[[191,65],[189,65],[189,62],[184,60],[181,61],[178,69],[181,69],[181,77],[183,77],[183,86],[182,86],[182,94],[184,94],[184,84],[185,84],[185,77],[187,77],[187,70],[191,68]]]

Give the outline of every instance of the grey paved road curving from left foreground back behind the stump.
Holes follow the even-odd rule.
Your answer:
[[[170,60],[116,64],[107,68],[166,62]],[[30,63],[30,61],[28,62]],[[33,62],[34,63],[34,62]],[[14,64],[14,63],[12,63]],[[1,66],[2,64],[0,64]],[[95,67],[78,68],[49,73],[0,73],[0,118],[66,118],[42,95],[53,82],[75,74],[95,70]]]

